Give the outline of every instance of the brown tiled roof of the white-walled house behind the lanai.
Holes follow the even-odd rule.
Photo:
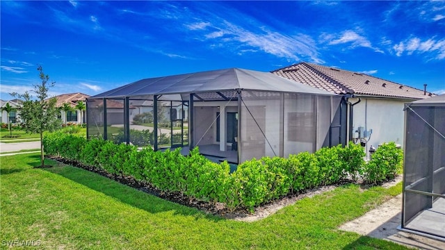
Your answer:
[[[430,92],[424,95],[423,90],[375,76],[312,63],[298,63],[274,70],[272,73],[336,94],[350,93],[398,99],[425,99],[433,95]]]

